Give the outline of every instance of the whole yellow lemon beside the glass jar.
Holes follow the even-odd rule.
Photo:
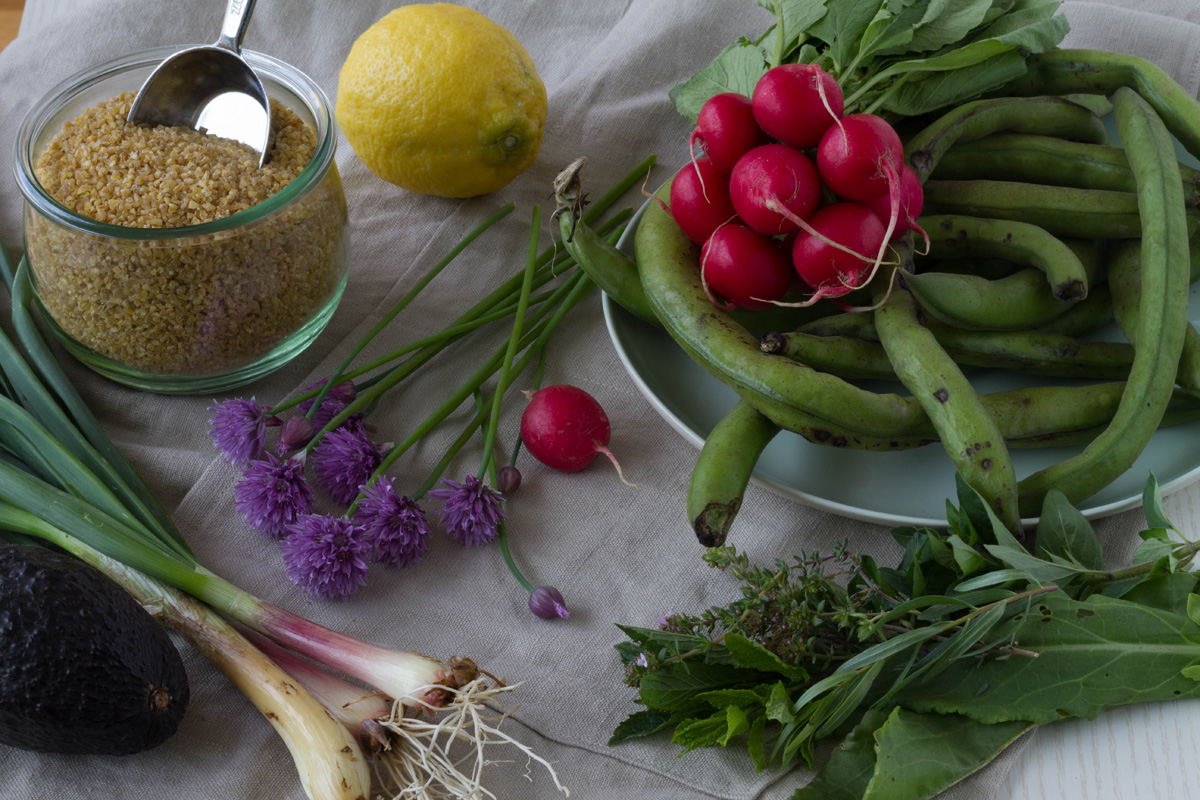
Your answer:
[[[546,88],[504,28],[462,6],[418,4],[354,42],[336,116],[354,152],[385,181],[474,197],[506,186],[538,157]]]

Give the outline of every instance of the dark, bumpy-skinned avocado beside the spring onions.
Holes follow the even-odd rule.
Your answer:
[[[0,542],[0,744],[126,756],[166,741],[188,700],[167,631],[78,559]]]

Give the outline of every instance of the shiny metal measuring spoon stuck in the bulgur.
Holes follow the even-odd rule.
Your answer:
[[[130,125],[185,126],[242,142],[266,163],[271,107],[258,74],[241,58],[254,0],[229,0],[221,38],[191,47],[155,67],[127,119]]]

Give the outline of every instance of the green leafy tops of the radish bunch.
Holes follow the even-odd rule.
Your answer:
[[[916,116],[955,106],[1026,72],[1031,53],[1067,35],[1058,0],[756,0],[776,22],[743,37],[671,91],[695,121],[713,95],[749,97],[779,64],[816,64],[846,114]]]

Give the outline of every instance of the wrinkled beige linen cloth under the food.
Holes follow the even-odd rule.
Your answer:
[[[332,98],[354,38],[394,5],[388,0],[318,2],[263,0],[246,47],[296,65]],[[550,121],[536,164],[492,197],[444,200],[408,194],[371,175],[341,142],[337,161],[352,221],[353,265],[341,308],[319,341],[281,372],[240,390],[274,403],[329,371],[428,265],[486,213],[508,200],[511,215],[403,313],[378,351],[432,332],[520,269],[534,204],[547,203],[556,173],[578,156],[594,193],[643,156],[658,154],[653,184],[685,160],[688,124],[667,90],[737,36],[757,34],[769,16],[749,0],[598,0],[566,2],[472,0],[521,40],[550,92]],[[0,53],[0,152],[11,158],[20,118],[72,73],[132,49],[209,42],[220,24],[217,0],[96,0],[68,18],[23,35]],[[1133,52],[1158,61],[1189,92],[1200,89],[1200,5],[1194,0],[1109,0],[1064,4],[1076,47]],[[20,247],[22,200],[11,172],[0,192],[0,235]],[[638,198],[630,200],[636,204]],[[544,237],[544,241],[547,241]],[[482,348],[505,333],[476,338],[475,353],[434,362],[374,415],[384,440],[398,440],[473,367]],[[613,422],[612,449],[640,488],[617,482],[607,465],[563,475],[523,461],[526,481],[510,513],[512,549],[535,583],[560,588],[570,620],[546,622],[526,609],[496,547],[464,549],[438,535],[428,557],[403,571],[374,570],[346,602],[305,597],[284,577],[275,545],[250,530],[232,506],[238,471],[206,435],[211,397],[160,397],[98,379],[70,365],[110,435],[172,510],[200,560],[234,583],[331,627],[396,648],[474,657],[510,681],[521,708],[505,722],[514,735],[557,764],[574,798],[786,798],[803,771],[756,774],[740,746],[677,758],[665,738],[607,747],[614,726],[637,709],[622,684],[612,649],[614,622],[654,625],[672,610],[700,610],[733,599],[732,579],[704,567],[684,519],[695,450],[654,413],[626,377],[605,331],[599,296],[574,311],[552,343],[547,383],[572,383],[595,395]],[[516,431],[517,405],[502,440]],[[457,417],[456,417],[457,419]],[[400,461],[401,486],[415,486],[452,433],[438,432]],[[478,450],[451,469],[478,467]],[[1126,513],[1099,524],[1110,542],[1139,530]],[[760,561],[802,547],[848,539],[883,563],[898,555],[887,529],[804,507],[751,487],[733,541]],[[253,708],[186,644],[193,687],[176,736],[134,757],[40,756],[0,748],[0,796],[23,800],[179,798],[294,800],[302,798],[287,751]],[[1020,758],[1021,742],[948,796],[990,798]],[[493,768],[500,798],[551,798],[541,768],[523,758]]]

